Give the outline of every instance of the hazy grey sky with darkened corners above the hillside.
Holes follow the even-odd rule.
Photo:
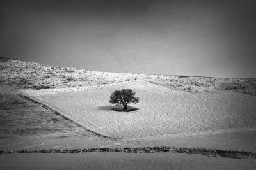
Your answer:
[[[94,71],[256,77],[255,2],[0,0],[0,56]]]

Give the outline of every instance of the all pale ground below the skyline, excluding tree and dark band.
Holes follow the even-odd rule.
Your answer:
[[[111,109],[111,92],[122,88],[138,92],[139,110]],[[0,150],[170,146],[255,153],[255,92],[256,78],[102,73],[0,59]],[[15,153],[0,155],[0,163],[0,169],[256,168],[255,159],[179,153]]]

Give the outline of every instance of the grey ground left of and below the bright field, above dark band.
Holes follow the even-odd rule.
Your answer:
[[[256,152],[256,130],[250,127],[193,136],[109,139],[95,136],[43,104],[9,93],[1,89],[0,150],[3,151],[172,146]]]

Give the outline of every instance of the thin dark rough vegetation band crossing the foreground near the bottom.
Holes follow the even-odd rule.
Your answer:
[[[186,153],[200,154],[211,157],[229,157],[234,159],[256,159],[256,153],[233,151],[233,150],[213,150],[204,148],[173,148],[173,147],[147,147],[147,148],[88,148],[69,150],[16,150],[0,151],[0,154],[8,153],[86,153],[86,152],[121,152],[121,153]]]

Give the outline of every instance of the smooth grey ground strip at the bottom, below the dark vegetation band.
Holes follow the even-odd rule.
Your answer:
[[[256,169],[255,159],[180,153],[26,153],[0,155],[0,169]]]

